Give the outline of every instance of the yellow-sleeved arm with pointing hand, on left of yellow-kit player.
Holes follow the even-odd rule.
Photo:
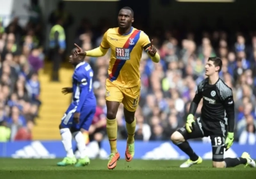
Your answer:
[[[75,43],[75,46],[76,46],[76,51],[74,52],[74,54],[76,56],[100,57],[100,56],[104,56],[108,52],[108,49],[104,49],[102,47],[97,47],[95,49],[92,49],[91,51],[83,51],[83,49],[79,47],[76,43]]]

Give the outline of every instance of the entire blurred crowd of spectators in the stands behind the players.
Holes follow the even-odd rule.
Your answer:
[[[89,20],[81,20],[74,42],[84,50],[98,47],[103,33],[108,29],[106,22],[95,28]],[[180,38],[172,30],[163,30],[152,38],[161,61],[153,63],[143,52],[140,63],[140,106],[136,111],[136,140],[169,140],[171,134],[184,125],[197,84],[205,78],[205,61],[209,57],[219,56],[223,61],[220,77],[233,89],[236,141],[255,144],[256,35],[204,31],[185,33]],[[23,136],[22,139],[31,139],[30,131],[41,104],[37,72],[44,65],[45,55],[41,47],[43,39],[42,28],[33,24],[33,21],[22,28],[17,18],[0,33],[0,121],[2,128],[11,128],[11,140],[20,139],[20,136]],[[95,72],[93,87],[98,104],[90,128],[91,140],[101,141],[106,137],[105,82],[109,58],[110,53],[100,58],[86,57]],[[196,117],[200,116],[201,107],[202,101],[198,105]],[[118,137],[126,139],[122,104],[116,119]],[[0,128],[0,139],[1,131]],[[202,140],[209,142],[208,137]]]

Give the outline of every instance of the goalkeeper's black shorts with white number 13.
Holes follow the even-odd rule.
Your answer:
[[[225,150],[225,139],[226,139],[226,126],[220,122],[220,127],[214,128],[214,130],[207,130],[204,127],[200,118],[195,121],[195,126],[191,133],[188,133],[186,127],[182,127],[178,132],[182,134],[185,140],[196,139],[202,137],[211,137],[212,143],[212,161],[222,162],[224,160],[224,150]]]

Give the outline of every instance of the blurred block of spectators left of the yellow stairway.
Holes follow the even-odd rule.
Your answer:
[[[38,10],[35,4],[28,8]],[[30,17],[25,27],[19,17],[7,27],[0,20],[0,141],[31,140],[40,117],[38,70],[45,56],[41,27],[40,15]]]

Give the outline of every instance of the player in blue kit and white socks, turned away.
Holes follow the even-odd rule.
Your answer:
[[[73,53],[70,55],[70,63],[75,67],[72,88],[63,88],[62,93],[73,93],[73,102],[68,107],[60,124],[60,134],[67,157],[57,165],[86,166],[90,164],[90,159],[86,156],[86,145],[82,132],[88,131],[96,111],[96,98],[92,89],[93,70],[88,63],[83,61],[83,58],[74,56]],[[72,150],[72,136],[76,140],[81,154],[78,160]]]

